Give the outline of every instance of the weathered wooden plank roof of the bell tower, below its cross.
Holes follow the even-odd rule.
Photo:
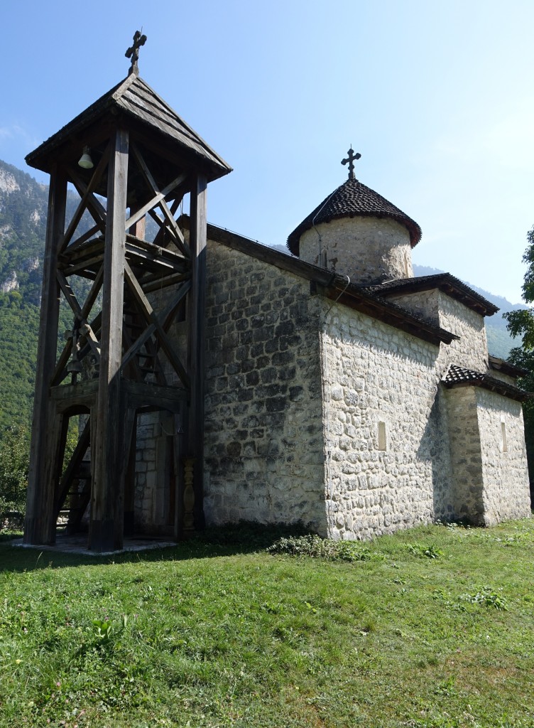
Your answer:
[[[26,157],[31,167],[49,173],[53,153],[98,119],[124,114],[163,136],[170,146],[178,145],[210,170],[209,181],[231,172],[231,167],[151,87],[135,73],[114,86],[95,103],[65,124]]]

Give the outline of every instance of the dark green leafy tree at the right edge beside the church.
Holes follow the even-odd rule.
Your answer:
[[[522,285],[523,299],[527,304],[534,304],[534,226],[527,232],[527,250],[523,255],[523,262],[527,264],[527,272]],[[518,384],[527,392],[534,392],[534,309],[520,309],[503,314],[508,321],[507,328],[512,336],[521,336],[522,345],[511,349],[508,360],[510,363],[525,369],[527,373],[522,376]],[[530,477],[530,490],[534,484],[534,399],[527,400],[523,405],[525,418],[525,440],[527,443],[528,470]]]

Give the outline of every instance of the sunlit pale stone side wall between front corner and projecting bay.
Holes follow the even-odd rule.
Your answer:
[[[434,518],[439,349],[324,303],[329,535],[366,539]],[[447,443],[446,443],[447,446]],[[442,483],[438,483],[439,478]]]

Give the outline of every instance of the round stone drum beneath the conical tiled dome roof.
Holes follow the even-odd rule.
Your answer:
[[[353,283],[413,277],[410,234],[388,218],[354,217],[320,223],[300,237],[300,258],[347,274]]]

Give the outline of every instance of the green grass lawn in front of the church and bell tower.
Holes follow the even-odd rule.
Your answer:
[[[226,540],[1,542],[0,726],[534,726],[534,521],[322,558]]]

